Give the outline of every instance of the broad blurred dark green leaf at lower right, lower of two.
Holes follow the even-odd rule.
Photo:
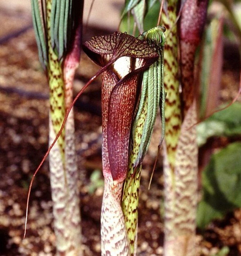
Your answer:
[[[229,144],[214,154],[202,180],[203,199],[197,210],[199,228],[241,207],[241,142]]]

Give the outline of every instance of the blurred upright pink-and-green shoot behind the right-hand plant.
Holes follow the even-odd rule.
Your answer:
[[[222,75],[223,19],[213,18],[206,25],[199,52],[199,117],[209,116],[217,107]],[[215,61],[214,61],[215,60]]]

